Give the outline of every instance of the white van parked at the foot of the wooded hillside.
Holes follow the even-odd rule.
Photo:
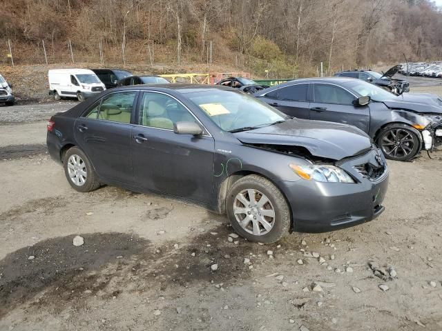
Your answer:
[[[95,72],[88,69],[54,69],[48,71],[49,94],[55,100],[61,97],[77,98],[83,101],[106,90]]]

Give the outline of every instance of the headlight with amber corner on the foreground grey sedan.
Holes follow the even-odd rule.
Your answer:
[[[289,167],[302,179],[329,183],[355,183],[344,170],[334,165],[297,165],[290,163]]]

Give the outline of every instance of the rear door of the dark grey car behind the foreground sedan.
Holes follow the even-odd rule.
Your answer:
[[[294,84],[273,90],[261,99],[289,116],[309,119],[308,89],[308,83]]]

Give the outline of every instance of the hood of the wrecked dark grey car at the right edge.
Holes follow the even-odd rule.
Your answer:
[[[421,113],[442,114],[442,98],[430,93],[403,93],[400,96],[383,101],[388,108],[412,110]]]

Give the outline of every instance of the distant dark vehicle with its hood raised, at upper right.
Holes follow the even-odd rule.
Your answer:
[[[385,90],[389,90],[394,94],[402,94],[403,92],[410,92],[410,83],[404,79],[394,79],[393,76],[401,70],[402,66],[398,64],[393,68],[387,70],[387,72],[380,74],[379,72],[372,70],[349,70],[343,72],[336,72],[335,77],[351,77],[363,79],[369,83],[374,83]]]

